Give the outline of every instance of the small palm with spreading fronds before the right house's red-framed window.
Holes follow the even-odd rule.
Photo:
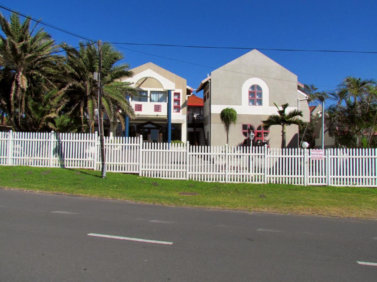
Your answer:
[[[277,108],[278,114],[270,115],[267,120],[263,121],[263,126],[270,127],[271,125],[281,125],[282,126],[282,146],[281,148],[284,149],[287,145],[286,135],[287,135],[287,126],[292,124],[296,124],[300,126],[302,124],[302,120],[298,117],[302,117],[302,111],[297,111],[296,109],[293,111],[285,113],[285,110],[288,108],[289,104],[286,103],[282,105],[282,109],[280,110],[279,107],[274,103]]]

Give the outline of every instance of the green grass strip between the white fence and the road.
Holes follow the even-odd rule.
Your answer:
[[[0,187],[160,205],[377,219],[377,189],[207,183],[64,168],[0,166]],[[180,195],[179,193],[198,193]]]

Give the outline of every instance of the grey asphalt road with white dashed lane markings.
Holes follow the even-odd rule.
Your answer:
[[[376,281],[357,261],[377,262],[377,221],[0,189],[1,281]]]

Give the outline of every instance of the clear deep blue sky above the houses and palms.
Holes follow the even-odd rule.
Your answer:
[[[377,51],[377,1],[2,1],[2,5],[108,42],[212,45],[273,49]],[[9,17],[9,12],[0,9]],[[59,43],[79,38],[45,28]],[[206,65],[200,67],[130,50],[131,67],[153,62],[187,79],[194,89],[213,68],[247,50],[123,46],[139,52]],[[377,54],[261,51],[320,90],[346,76],[377,78]],[[328,87],[331,86],[331,87]],[[202,95],[202,93],[200,93]]]

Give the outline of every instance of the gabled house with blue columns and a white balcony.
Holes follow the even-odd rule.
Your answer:
[[[133,77],[122,81],[137,90],[138,95],[129,98],[136,118],[125,118],[124,132],[119,132],[119,125],[113,131],[120,136],[143,135],[151,142],[186,142],[186,95],[192,91],[186,80],[151,62],[130,71]]]

